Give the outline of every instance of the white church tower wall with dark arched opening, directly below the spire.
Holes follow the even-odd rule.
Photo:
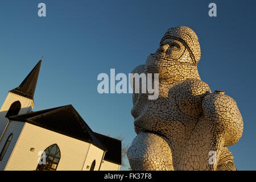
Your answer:
[[[31,99],[9,92],[5,102],[3,102],[3,105],[0,109],[0,134],[3,133],[3,130],[5,130],[6,124],[8,122],[8,119],[5,117],[7,111],[9,110],[11,104],[13,104],[15,101],[20,101],[21,104],[19,114],[29,113],[32,110],[32,107],[34,107],[34,103]]]

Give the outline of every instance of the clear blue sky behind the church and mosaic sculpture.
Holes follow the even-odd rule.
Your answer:
[[[38,17],[38,3],[47,17]],[[208,5],[217,4],[217,17]],[[238,170],[255,170],[255,1],[20,1],[0,2],[0,103],[42,55],[35,110],[72,104],[97,133],[130,144],[135,137],[131,94],[99,94],[99,73],[130,73],[155,52],[170,27],[199,36],[199,73],[237,101],[244,130],[230,146]],[[127,169],[122,168],[122,169]]]

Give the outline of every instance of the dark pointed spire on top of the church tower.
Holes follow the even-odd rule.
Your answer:
[[[35,65],[35,67],[28,74],[28,76],[23,80],[23,82],[17,88],[10,90],[10,92],[33,100],[35,88],[36,88],[36,82],[38,81],[41,62],[42,60],[40,60],[38,64]]]

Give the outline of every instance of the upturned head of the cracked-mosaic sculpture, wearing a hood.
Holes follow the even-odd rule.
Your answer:
[[[159,73],[161,80],[179,81],[199,78],[197,63],[201,57],[197,35],[191,28],[169,28],[159,48],[147,58],[146,72]]]

